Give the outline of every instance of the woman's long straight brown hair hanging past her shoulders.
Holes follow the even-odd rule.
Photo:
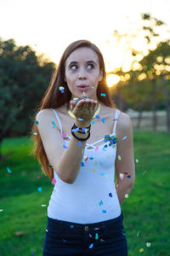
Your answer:
[[[90,49],[93,49],[94,52],[98,55],[99,68],[100,68],[100,71],[102,70],[103,72],[103,79],[99,81],[99,84],[97,87],[97,98],[99,99],[100,102],[103,102],[105,106],[116,108],[114,102],[111,99],[111,93],[106,82],[105,62],[103,59],[103,55],[101,54],[100,50],[95,44],[92,44],[88,40],[78,40],[70,44],[65,49],[65,52],[61,56],[61,59],[59,61],[59,66],[56,68],[56,70],[52,75],[52,79],[48,85],[48,89],[45,91],[44,96],[42,97],[42,101],[40,102],[40,105],[36,110],[35,116],[40,110],[44,108],[59,108],[60,106],[64,104],[68,104],[71,101],[71,91],[69,90],[67,83],[64,80],[65,79],[65,61],[75,49],[78,49],[80,47],[88,47]],[[60,92],[59,86],[65,87],[65,90],[64,90],[65,93]],[[101,93],[105,93],[106,96],[100,96]],[[34,141],[34,148],[31,154],[34,154],[37,156],[37,160],[42,166],[42,172],[45,175],[48,175],[48,177],[53,178],[54,177],[53,168],[49,166],[48,157],[43,148],[42,140],[37,130],[37,125],[34,123],[34,125],[32,126],[31,134],[35,134],[35,132],[37,133],[37,135],[36,136],[32,135],[33,141]]]

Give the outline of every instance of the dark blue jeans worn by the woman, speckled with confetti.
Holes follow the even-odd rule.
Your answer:
[[[76,224],[48,218],[43,256],[127,256],[127,238],[117,218],[94,224]]]

